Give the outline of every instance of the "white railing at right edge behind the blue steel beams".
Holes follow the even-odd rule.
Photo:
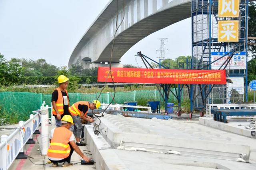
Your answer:
[[[206,104],[206,116],[212,117],[211,109],[256,109],[256,104]]]

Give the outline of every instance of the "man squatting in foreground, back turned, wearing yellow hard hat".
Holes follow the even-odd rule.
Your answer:
[[[47,152],[48,159],[53,163],[52,167],[57,167],[58,163],[64,162],[62,167],[72,166],[70,162],[73,151],[75,150],[86,162],[90,158],[85,156],[75,143],[74,134],[69,130],[73,124],[70,115],[64,115],[61,119],[61,127],[52,129],[50,136],[50,147]]]

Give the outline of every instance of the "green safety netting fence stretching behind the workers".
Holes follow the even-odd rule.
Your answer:
[[[175,94],[175,90],[171,89]],[[162,92],[163,93],[163,92]],[[77,101],[93,101],[96,100],[99,93],[82,94],[82,93],[68,93],[70,98],[70,105]],[[183,91],[181,96],[183,96]],[[100,95],[101,103],[110,103],[114,97],[114,92],[102,93]],[[11,113],[18,111],[22,114],[32,113],[33,110],[40,108],[43,101],[46,105],[51,106],[51,94],[36,94],[29,92],[0,92],[0,107]],[[138,102],[138,105],[146,106],[147,101],[163,101],[158,90],[134,90],[128,92],[116,92],[113,103],[124,104],[124,102]],[[168,102],[174,103],[176,98],[172,93],[169,94]]]

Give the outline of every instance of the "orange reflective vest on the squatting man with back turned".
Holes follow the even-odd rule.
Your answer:
[[[68,145],[72,132],[66,127],[57,127],[54,130],[47,156],[51,158],[67,158],[70,153]]]

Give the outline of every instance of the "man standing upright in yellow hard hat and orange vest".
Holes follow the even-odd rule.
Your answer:
[[[52,93],[52,114],[56,120],[56,127],[60,127],[60,120],[64,115],[70,115],[68,111],[69,107],[69,98],[68,91],[68,80],[64,75],[58,76],[59,87],[54,90]]]

